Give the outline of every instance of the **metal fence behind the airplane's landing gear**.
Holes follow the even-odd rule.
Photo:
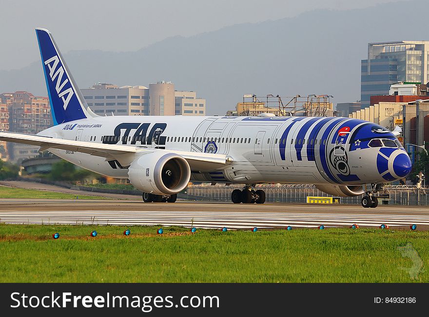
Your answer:
[[[208,201],[230,201],[231,193],[234,189],[241,189],[242,186],[230,185],[230,186],[207,186],[207,185],[190,185],[187,189],[186,194],[192,196],[197,200],[208,200]],[[307,196],[320,196],[330,197],[317,188],[314,185],[258,185],[257,188],[265,190],[267,195],[267,202],[293,202],[293,203],[305,203],[307,202]],[[428,186],[417,188],[416,186],[410,185],[395,185],[386,186],[385,191],[380,193],[379,203],[380,204],[397,204],[397,205],[429,205],[429,188]],[[185,195],[181,195],[185,198]],[[341,203],[346,204],[360,204],[362,196],[356,197],[342,197]]]

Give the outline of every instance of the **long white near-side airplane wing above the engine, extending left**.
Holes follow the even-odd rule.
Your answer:
[[[139,146],[127,146],[117,144],[103,144],[77,140],[57,139],[41,135],[0,132],[0,140],[23,143],[39,146],[39,151],[50,148],[81,152],[89,155],[106,158],[106,160],[117,159],[123,162],[123,166],[129,165],[130,161],[135,158],[136,154],[151,153],[154,151],[163,151],[166,153],[175,153],[185,158],[191,169],[206,170],[216,169],[231,164],[233,159],[230,156],[212,153],[199,153],[187,151],[174,151],[163,149],[150,149]]]

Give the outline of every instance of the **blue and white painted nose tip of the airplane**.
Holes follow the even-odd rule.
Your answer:
[[[380,148],[377,155],[377,169],[387,181],[405,178],[411,172],[412,164],[403,149]]]

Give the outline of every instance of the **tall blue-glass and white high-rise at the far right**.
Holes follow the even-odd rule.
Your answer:
[[[429,41],[393,41],[368,44],[368,58],[361,61],[362,108],[371,96],[389,95],[398,81],[429,82]]]

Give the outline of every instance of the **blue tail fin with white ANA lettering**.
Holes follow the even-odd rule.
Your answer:
[[[85,101],[51,32],[36,29],[54,124],[88,118]]]

